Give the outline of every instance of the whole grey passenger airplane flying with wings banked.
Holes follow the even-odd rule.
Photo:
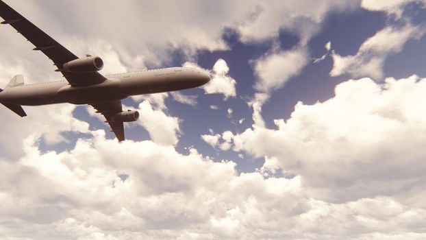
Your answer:
[[[118,141],[125,140],[124,122],[136,121],[139,112],[123,111],[121,100],[131,95],[163,93],[195,88],[207,84],[210,74],[200,69],[171,67],[132,73],[101,75],[103,61],[99,56],[78,58],[53,38],[0,0],[1,24],[14,27],[53,61],[65,80],[24,84],[16,75],[4,89],[0,88],[0,104],[21,117],[27,116],[22,106],[47,104],[88,104],[105,117]]]

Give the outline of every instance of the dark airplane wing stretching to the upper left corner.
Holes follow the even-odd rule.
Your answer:
[[[71,60],[77,59],[71,51],[60,45],[49,35],[45,34],[36,25],[25,19],[21,14],[10,8],[9,5],[0,0],[0,16],[5,20],[2,24],[10,24],[18,33],[22,34],[27,40],[35,45],[33,50],[42,51],[53,61],[58,69],[63,69],[62,65]],[[97,72],[91,73],[71,73],[61,71],[62,75],[72,86],[87,86],[99,84],[105,81],[105,77]]]

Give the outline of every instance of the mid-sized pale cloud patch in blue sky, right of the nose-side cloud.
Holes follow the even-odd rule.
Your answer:
[[[308,64],[308,60],[305,47],[289,51],[274,51],[254,60],[253,69],[258,77],[255,88],[266,93],[281,88],[291,77],[299,75],[303,67]]]

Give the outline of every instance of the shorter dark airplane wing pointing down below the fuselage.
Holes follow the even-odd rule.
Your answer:
[[[123,111],[123,108],[121,107],[121,101],[105,101],[90,105],[94,107],[97,112],[101,113],[103,117],[105,117],[105,122],[110,124],[111,132],[114,132],[118,141],[123,141],[125,139],[123,121],[112,121],[111,118],[112,115]]]

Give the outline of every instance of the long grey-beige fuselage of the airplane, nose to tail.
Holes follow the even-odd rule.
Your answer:
[[[194,88],[210,80],[208,73],[185,67],[117,73],[105,77],[105,82],[89,86],[71,86],[66,80],[16,86],[2,91],[0,102],[23,106],[93,104],[121,100],[131,95]]]

